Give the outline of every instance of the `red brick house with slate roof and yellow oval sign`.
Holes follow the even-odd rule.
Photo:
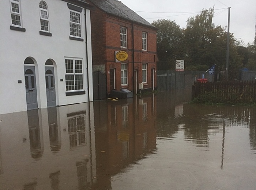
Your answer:
[[[121,1],[89,2],[94,5],[91,9],[94,99],[106,98],[113,90],[127,89],[134,94],[155,90],[157,28]]]

